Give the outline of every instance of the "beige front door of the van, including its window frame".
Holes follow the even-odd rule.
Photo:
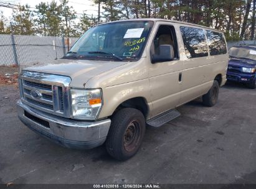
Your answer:
[[[181,99],[181,71],[183,62],[179,60],[179,48],[175,28],[166,22],[159,22],[158,30],[151,44],[151,55],[159,54],[159,45],[173,45],[174,60],[150,63],[149,86],[153,105],[152,117],[175,108]]]

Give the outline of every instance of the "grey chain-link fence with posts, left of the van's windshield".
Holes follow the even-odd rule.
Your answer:
[[[32,65],[61,58],[77,39],[0,35],[0,65]]]

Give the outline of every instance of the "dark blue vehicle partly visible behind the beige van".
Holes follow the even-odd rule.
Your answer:
[[[240,45],[229,50],[227,80],[255,89],[256,45]]]

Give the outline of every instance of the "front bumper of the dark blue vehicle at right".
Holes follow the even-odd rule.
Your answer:
[[[255,82],[255,73],[234,73],[227,71],[227,80],[239,83],[252,83]]]

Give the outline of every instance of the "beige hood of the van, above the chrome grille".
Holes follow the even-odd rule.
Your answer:
[[[100,60],[70,60],[58,59],[49,63],[33,65],[22,70],[36,71],[40,73],[50,73],[54,75],[69,76],[70,86],[73,88],[83,88],[93,76],[111,70],[127,62],[111,62]]]

